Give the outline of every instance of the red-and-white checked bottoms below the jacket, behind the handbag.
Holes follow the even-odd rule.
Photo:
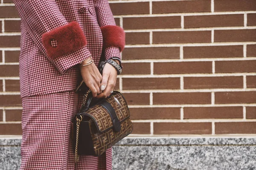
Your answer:
[[[71,120],[82,94],[64,91],[22,98],[20,170],[112,170],[112,148],[102,156],[79,156],[75,163]]]

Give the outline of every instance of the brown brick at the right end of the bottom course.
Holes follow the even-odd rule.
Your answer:
[[[215,134],[256,133],[256,122],[215,122]]]

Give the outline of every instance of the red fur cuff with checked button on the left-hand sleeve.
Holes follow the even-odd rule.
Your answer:
[[[83,30],[76,21],[44,33],[42,42],[47,55],[52,59],[76,51],[87,44]]]

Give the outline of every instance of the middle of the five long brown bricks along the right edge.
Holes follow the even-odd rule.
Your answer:
[[[215,61],[216,73],[256,72],[256,60]]]

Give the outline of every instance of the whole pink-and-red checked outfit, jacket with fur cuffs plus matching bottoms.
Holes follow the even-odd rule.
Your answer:
[[[81,106],[74,92],[78,63],[120,58],[125,33],[108,0],[13,0],[21,17],[20,96],[22,170],[111,170],[109,148],[74,162],[71,119]],[[121,65],[122,67],[122,65]]]

